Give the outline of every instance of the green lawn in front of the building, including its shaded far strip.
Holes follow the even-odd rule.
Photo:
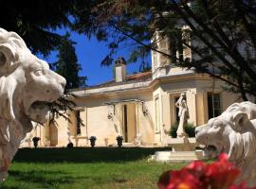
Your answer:
[[[182,163],[148,163],[166,148],[97,147],[20,149],[2,189],[148,189]]]

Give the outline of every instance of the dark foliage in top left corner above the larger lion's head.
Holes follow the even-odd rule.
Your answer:
[[[75,0],[1,1],[1,9],[7,11],[0,12],[0,26],[17,32],[33,53],[46,56],[63,39],[56,29],[71,26],[70,15],[75,14],[75,3]],[[87,6],[89,4],[87,1]]]

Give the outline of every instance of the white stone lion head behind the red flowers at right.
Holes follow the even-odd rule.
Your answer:
[[[195,129],[196,141],[226,152],[229,161],[242,169],[237,182],[256,185],[256,104],[234,103],[218,117]]]

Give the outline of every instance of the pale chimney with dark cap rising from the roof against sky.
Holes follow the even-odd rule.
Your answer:
[[[122,57],[115,61],[115,79],[116,82],[122,82],[126,79],[126,61]]]

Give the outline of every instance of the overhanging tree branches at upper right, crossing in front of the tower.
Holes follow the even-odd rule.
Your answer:
[[[228,90],[240,93],[244,100],[247,94],[256,96],[253,0],[97,0],[86,20],[83,12],[78,12],[74,29],[95,34],[99,40],[114,38],[108,42],[110,52],[102,61],[105,64],[112,62],[120,43],[132,39],[131,60],[154,50],[174,65],[224,80]],[[169,39],[168,52],[159,48],[159,42],[151,43],[155,31],[161,33],[161,39]],[[176,56],[180,46],[192,51],[191,60]]]

